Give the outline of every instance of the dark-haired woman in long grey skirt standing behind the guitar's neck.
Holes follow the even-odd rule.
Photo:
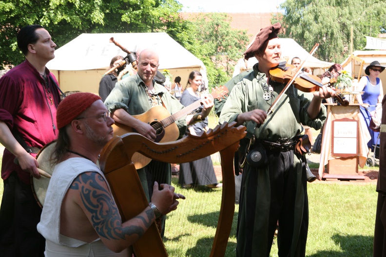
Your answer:
[[[198,87],[201,85],[201,79],[202,75],[198,71],[190,73],[188,84],[180,99],[181,104],[188,106],[201,99],[197,92]],[[201,109],[201,107],[198,109]],[[197,112],[199,111],[200,110],[197,110]],[[195,123],[194,125],[188,127],[189,132],[193,135],[204,133],[208,129],[208,118],[205,118],[202,122]],[[217,179],[214,173],[211,156],[207,156],[190,163],[180,164],[178,183],[187,188],[194,185],[216,187]]]

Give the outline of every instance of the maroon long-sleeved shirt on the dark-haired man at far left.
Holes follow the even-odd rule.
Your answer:
[[[46,74],[52,78],[48,88],[35,67],[25,60],[0,78],[0,120],[11,131],[18,131],[29,147],[41,148],[58,138],[56,113],[60,94],[53,80],[57,84],[58,81],[47,68]],[[30,184],[30,173],[16,165],[14,159],[5,149],[1,178],[5,180],[16,171],[22,182]]]

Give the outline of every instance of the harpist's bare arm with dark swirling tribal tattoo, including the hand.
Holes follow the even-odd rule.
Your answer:
[[[158,184],[154,183],[154,195],[152,202],[157,206],[162,214],[166,214],[176,209],[178,202],[178,195],[174,193],[174,187],[167,184],[161,184],[162,190],[158,190]],[[181,197],[182,198],[182,197]],[[65,202],[66,201],[66,202]],[[65,204],[65,205],[64,205]],[[67,206],[63,208],[63,206]],[[71,222],[77,222],[76,208],[69,210],[74,206],[80,207],[80,213],[83,213],[87,219],[83,223],[90,222],[94,232],[102,240],[102,242],[112,251],[121,252],[128,246],[132,245],[155,220],[154,211],[150,207],[146,207],[140,214],[131,220],[122,223],[118,208],[111,195],[106,181],[97,172],[85,172],[80,174],[66,193],[65,200],[62,203],[61,218],[65,213],[71,212]],[[82,217],[79,217],[81,220]],[[64,224],[61,221],[61,232],[64,230]],[[77,230],[77,233],[87,233],[87,226],[89,224],[82,224],[81,229],[73,228],[72,231]],[[71,232],[72,232],[71,231]],[[65,236],[85,240],[82,236],[74,237],[68,235],[71,233],[62,233]],[[67,234],[67,235],[66,235]],[[72,233],[71,233],[72,234]],[[95,239],[94,239],[95,240]],[[90,240],[87,240],[88,242]],[[92,240],[91,240],[92,241]]]

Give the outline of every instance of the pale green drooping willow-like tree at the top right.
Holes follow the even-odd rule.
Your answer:
[[[353,50],[366,45],[366,37],[386,32],[384,0],[286,0],[284,14],[276,15],[286,37],[293,38],[305,49],[320,46],[315,57],[340,63],[350,53],[351,28]]]

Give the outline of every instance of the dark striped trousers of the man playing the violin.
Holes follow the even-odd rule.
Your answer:
[[[267,158],[266,166],[247,164],[243,171],[236,256],[269,257],[279,221],[279,257],[304,257],[309,223],[306,163],[302,158],[294,168],[292,150],[267,150]]]

